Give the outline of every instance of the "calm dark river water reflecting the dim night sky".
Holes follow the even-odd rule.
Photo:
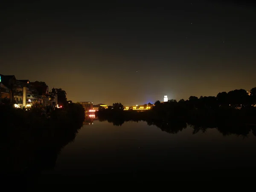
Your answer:
[[[255,172],[256,137],[223,136],[217,129],[192,134],[187,127],[169,134],[146,122],[114,126],[94,119],[58,154],[49,178],[92,180],[168,180],[178,176],[251,177]],[[55,179],[56,182],[57,179]]]

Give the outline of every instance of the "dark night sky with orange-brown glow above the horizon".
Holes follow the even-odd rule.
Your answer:
[[[109,2],[1,1],[0,73],[107,105],[256,87],[250,1]]]

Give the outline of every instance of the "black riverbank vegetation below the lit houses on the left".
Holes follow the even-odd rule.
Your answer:
[[[26,111],[0,105],[1,173],[6,180],[18,177],[21,186],[55,166],[57,154],[75,139],[84,121],[79,103],[67,103],[65,110],[56,109],[47,116],[40,108],[35,104]]]

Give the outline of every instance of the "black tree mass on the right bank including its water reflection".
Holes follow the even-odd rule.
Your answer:
[[[100,121],[108,120],[113,125],[126,121],[146,121],[163,131],[177,133],[187,124],[194,128],[193,133],[218,128],[224,135],[247,135],[250,130],[256,133],[256,87],[250,92],[233,90],[215,96],[190,96],[188,100],[174,99],[168,102],[156,101],[151,110],[123,110],[121,103],[114,103],[108,109],[100,108],[96,116]]]

